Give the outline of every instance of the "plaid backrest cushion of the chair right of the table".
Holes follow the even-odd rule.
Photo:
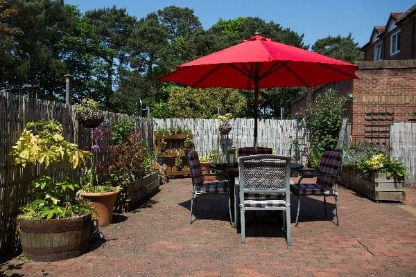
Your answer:
[[[337,150],[325,151],[322,156],[322,160],[321,160],[318,172],[322,174],[336,176],[342,159],[343,159],[343,152],[341,151],[337,151]],[[322,186],[322,188],[331,190],[333,184],[335,183],[335,178],[336,177],[320,176],[320,177],[317,177],[316,184]]]

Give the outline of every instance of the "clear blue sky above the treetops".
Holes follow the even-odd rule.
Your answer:
[[[218,19],[260,17],[284,28],[304,34],[304,44],[312,45],[317,39],[329,35],[352,33],[358,46],[370,39],[373,26],[385,25],[390,12],[403,12],[415,0],[64,0],[76,5],[81,12],[116,6],[126,8],[129,15],[146,17],[166,6],[191,8],[207,29]]]

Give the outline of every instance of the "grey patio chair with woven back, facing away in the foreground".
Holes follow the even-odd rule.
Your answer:
[[[241,243],[245,243],[245,211],[284,211],[286,242],[291,244],[291,199],[289,193],[291,157],[271,154],[239,157],[239,207]],[[275,195],[275,199],[248,195]],[[285,220],[286,218],[286,220]]]

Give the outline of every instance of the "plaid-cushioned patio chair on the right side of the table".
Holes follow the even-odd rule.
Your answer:
[[[336,191],[336,177],[338,175],[338,169],[341,166],[343,159],[343,150],[336,149],[331,151],[325,151],[318,170],[303,168],[298,170],[300,173],[300,179],[297,184],[291,185],[291,192],[297,195],[297,213],[296,224],[298,224],[299,210],[300,210],[300,196],[303,195],[323,195],[324,197],[324,210],[325,216],[327,216],[327,196],[335,198],[336,208],[336,224],[339,226],[338,220],[338,193]],[[302,184],[302,179],[316,177],[315,184]]]

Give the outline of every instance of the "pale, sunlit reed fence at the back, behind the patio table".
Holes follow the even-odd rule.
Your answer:
[[[221,145],[235,148],[253,146],[254,119],[234,118],[230,120],[232,129],[227,135],[218,131],[219,120],[201,118],[163,118],[154,119],[157,127],[188,127],[193,134],[195,150],[200,155],[210,154],[212,150],[223,149]],[[257,145],[273,148],[276,154],[300,159],[306,148],[308,136],[303,121],[262,119],[259,121]]]

